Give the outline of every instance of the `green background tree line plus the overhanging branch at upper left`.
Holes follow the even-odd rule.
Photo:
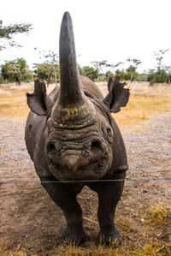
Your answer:
[[[6,27],[0,21],[0,52],[7,45],[21,47],[13,41],[14,35],[28,33],[31,30],[31,24],[15,24]],[[34,50],[39,54],[40,63],[34,63],[31,70],[24,58],[6,61],[0,67],[0,83],[17,82],[21,84],[21,82],[30,82],[35,77],[45,80],[47,85],[60,82],[58,55],[53,51],[40,51],[38,48]],[[122,62],[108,63],[106,60],[91,62],[90,66],[81,67],[79,65],[80,74],[94,81],[106,81],[110,76],[118,74],[121,76],[121,80],[130,80],[131,82],[133,80],[147,80],[150,81],[150,84],[171,82],[171,66],[162,65],[163,57],[168,51],[169,49],[154,52],[156,68],[145,70],[143,74],[139,74],[137,71],[142,62],[136,58],[128,58],[124,63],[125,65],[127,63],[125,69],[121,68]]]

